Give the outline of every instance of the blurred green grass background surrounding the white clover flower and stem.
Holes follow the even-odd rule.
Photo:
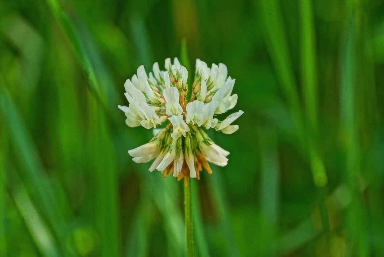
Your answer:
[[[381,0],[0,1],[0,256],[185,255],[182,182],[117,108],[182,49],[245,111],[193,184],[197,255],[382,256]]]

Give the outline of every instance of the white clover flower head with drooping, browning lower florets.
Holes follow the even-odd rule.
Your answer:
[[[200,179],[203,167],[211,174],[208,162],[219,166],[228,163],[229,152],[216,145],[203,128],[232,134],[239,128],[232,122],[244,113],[232,113],[223,121],[215,117],[235,107],[238,98],[237,94],[232,95],[235,79],[227,77],[223,63],[208,68],[207,63],[196,59],[191,87],[188,75],[177,58],[173,64],[167,58],[165,70],[154,63],[148,75],[141,65],[137,74],[124,83],[129,106],[118,106],[129,127],[154,128],[149,143],[128,151],[133,161],[154,160],[149,171],[157,169],[164,177],[172,173],[178,180],[184,177],[185,183],[188,177]]]

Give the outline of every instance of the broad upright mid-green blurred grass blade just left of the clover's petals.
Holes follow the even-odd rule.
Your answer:
[[[96,225],[101,237],[101,255],[119,256],[118,185],[116,160],[108,123],[98,102],[89,95],[90,170],[94,170]]]

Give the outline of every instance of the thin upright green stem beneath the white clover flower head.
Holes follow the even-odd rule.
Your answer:
[[[193,224],[191,211],[191,181],[184,186],[184,210],[185,210],[185,240],[187,242],[187,256],[195,256],[195,244],[193,238]]]

